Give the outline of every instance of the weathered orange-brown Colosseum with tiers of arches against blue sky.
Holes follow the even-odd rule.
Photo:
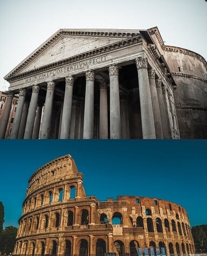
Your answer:
[[[195,253],[188,214],[170,201],[86,196],[83,175],[65,155],[29,179],[15,255],[141,256]]]

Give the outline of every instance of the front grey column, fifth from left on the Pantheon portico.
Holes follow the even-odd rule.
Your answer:
[[[63,103],[63,115],[62,115],[62,122],[61,122],[60,139],[69,139],[69,135],[70,135],[73,83],[74,83],[73,76],[65,77],[65,96],[64,96],[64,103]]]

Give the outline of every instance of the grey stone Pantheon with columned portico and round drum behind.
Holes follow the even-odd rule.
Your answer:
[[[158,29],[60,29],[4,78],[4,139],[207,137],[207,63]]]

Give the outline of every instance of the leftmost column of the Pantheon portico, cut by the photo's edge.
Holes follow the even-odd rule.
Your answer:
[[[8,121],[9,121],[9,116],[10,116],[10,111],[11,111],[11,105],[12,105],[12,100],[13,96],[15,94],[13,91],[9,91],[7,93],[7,99],[6,99],[6,105],[4,109],[4,114],[2,116],[2,120],[0,123],[0,139],[4,139],[5,134],[6,134],[6,128],[8,126]]]

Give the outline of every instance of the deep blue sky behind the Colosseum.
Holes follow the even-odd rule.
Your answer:
[[[0,140],[0,201],[5,226],[18,226],[27,181],[56,157],[70,154],[87,195],[160,198],[184,207],[191,226],[207,224],[207,140]]]

